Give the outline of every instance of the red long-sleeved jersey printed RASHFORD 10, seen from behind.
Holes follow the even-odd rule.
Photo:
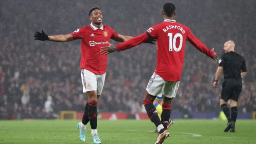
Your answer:
[[[164,20],[163,23],[152,26],[146,33],[136,36],[116,46],[118,51],[127,50],[149,38],[156,38],[156,74],[166,81],[180,81],[185,57],[185,45],[188,40],[198,50],[214,58],[214,52],[198,40],[191,30],[175,20]]]

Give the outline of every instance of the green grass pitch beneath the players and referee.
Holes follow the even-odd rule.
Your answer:
[[[0,144],[82,144],[75,120],[0,121]],[[256,121],[238,120],[235,133],[224,133],[226,121],[175,120],[164,144],[256,144]],[[150,120],[98,120],[102,144],[154,144]],[[92,144],[90,126],[86,142]]]

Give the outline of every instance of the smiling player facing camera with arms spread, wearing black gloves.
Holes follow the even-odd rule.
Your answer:
[[[79,138],[82,142],[85,142],[86,124],[90,121],[92,140],[94,144],[100,144],[101,141],[97,132],[97,104],[104,86],[108,60],[107,56],[100,53],[100,47],[107,46],[110,39],[124,42],[132,38],[132,36],[122,36],[109,26],[102,25],[102,12],[98,7],[94,7],[89,11],[89,18],[92,21],[90,25],[78,28],[73,33],[48,36],[42,30],[42,33],[36,32],[34,38],[35,40],[53,42],[82,40],[80,68],[83,92],[88,95],[88,103],[85,106],[82,121],[77,124],[80,131]],[[146,43],[154,44],[152,41]]]

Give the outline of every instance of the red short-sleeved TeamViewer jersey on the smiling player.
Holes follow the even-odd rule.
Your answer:
[[[102,25],[96,28],[92,24],[78,28],[71,33],[74,39],[82,39],[80,68],[89,70],[94,74],[105,74],[108,56],[101,54],[100,48],[108,46],[111,38],[118,37],[112,28]]]

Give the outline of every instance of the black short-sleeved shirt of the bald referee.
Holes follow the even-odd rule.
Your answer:
[[[224,79],[241,79],[241,72],[247,72],[244,58],[236,52],[224,53],[219,66],[223,67]]]

